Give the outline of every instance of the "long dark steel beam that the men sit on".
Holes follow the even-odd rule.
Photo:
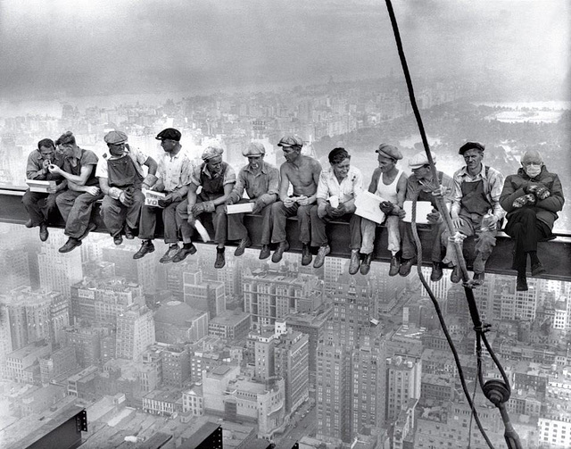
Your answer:
[[[24,206],[21,204],[21,196],[24,193],[22,188],[0,189],[0,221],[6,223],[24,224],[28,220],[28,215]],[[99,215],[99,204],[96,204],[93,218],[97,223],[96,232],[106,232],[103,221]],[[213,235],[211,225],[203,223],[206,229],[209,229]],[[252,247],[260,248],[261,240],[261,216],[246,215],[244,225],[252,238]],[[62,217],[53,218],[54,228],[63,228],[64,223]],[[330,236],[329,243],[331,246],[331,256],[349,258],[351,250],[349,249],[349,225],[344,222],[331,222],[327,225],[327,234]],[[385,227],[377,227],[377,238],[375,240],[375,261],[389,262],[391,254],[386,250],[387,235]],[[432,241],[426,229],[418,229],[418,234],[422,242],[423,262],[430,264],[430,248]],[[287,235],[290,236],[290,252],[301,253],[302,244],[297,238],[297,220],[292,218],[287,220]],[[162,237],[162,223],[159,217],[157,220],[156,237]],[[201,241],[198,235],[195,236],[196,241]],[[229,242],[228,245],[236,245],[236,242]],[[468,262],[468,268],[471,265],[470,254],[473,248],[473,239],[468,238],[465,244],[465,257]],[[492,256],[486,264],[486,272],[494,274],[504,274],[514,276],[516,272],[511,270],[513,241],[503,234],[499,234],[497,244],[494,248]],[[317,248],[313,248],[317,252]],[[538,255],[542,260],[547,272],[541,275],[543,279],[571,280],[571,233],[558,234],[557,238],[548,242],[540,242]]]

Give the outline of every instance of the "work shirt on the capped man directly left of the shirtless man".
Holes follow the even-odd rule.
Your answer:
[[[271,195],[279,192],[279,170],[268,162],[261,162],[261,170],[254,173],[250,164],[246,165],[238,172],[230,197],[237,202],[244,195],[244,189],[250,199],[262,198],[264,204],[272,203]]]

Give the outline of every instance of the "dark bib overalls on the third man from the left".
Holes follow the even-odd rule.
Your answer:
[[[103,198],[101,218],[109,233],[115,237],[120,235],[125,222],[130,229],[136,229],[138,226],[141,206],[145,203],[145,196],[141,192],[143,176],[138,172],[135,162],[128,154],[119,159],[108,159],[107,171],[109,187],[129,190],[133,195],[133,204],[129,206],[109,195]]]

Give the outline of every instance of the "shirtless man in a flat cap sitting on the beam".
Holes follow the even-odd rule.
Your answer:
[[[271,257],[272,262],[282,260],[284,252],[289,249],[285,236],[285,220],[297,215],[300,241],[302,242],[302,265],[311,263],[310,241],[310,211],[317,201],[317,190],[321,164],[315,159],[302,155],[303,141],[297,136],[285,136],[279,141],[284,152],[285,162],[279,168],[281,181],[279,184],[279,199],[272,205],[273,229],[272,243],[277,243],[277,249]],[[291,185],[294,187],[292,196],[287,195]]]

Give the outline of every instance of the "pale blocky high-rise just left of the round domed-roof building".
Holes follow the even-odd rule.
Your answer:
[[[137,362],[154,343],[153,312],[136,305],[117,317],[117,358]]]

